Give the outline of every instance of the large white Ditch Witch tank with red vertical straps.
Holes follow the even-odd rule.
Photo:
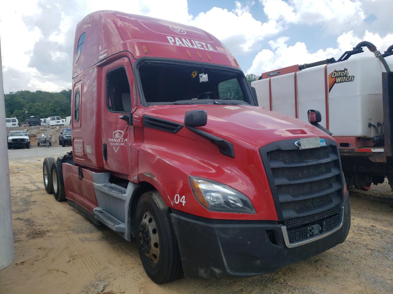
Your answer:
[[[393,69],[393,56],[386,61]],[[375,129],[368,124],[383,123],[382,72],[385,69],[378,58],[358,57],[265,78],[251,85],[259,106],[305,122],[307,111],[315,109],[322,114],[321,125],[334,136],[372,138]]]

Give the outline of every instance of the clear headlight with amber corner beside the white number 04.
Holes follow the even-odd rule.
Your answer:
[[[196,200],[210,211],[256,213],[250,199],[222,183],[189,176]]]

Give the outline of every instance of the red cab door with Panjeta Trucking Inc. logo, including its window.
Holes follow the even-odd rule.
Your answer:
[[[134,76],[127,57],[103,66],[102,135],[105,169],[129,175],[134,127],[120,117],[132,109]]]

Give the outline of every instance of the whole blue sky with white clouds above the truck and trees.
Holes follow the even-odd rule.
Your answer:
[[[3,0],[4,92],[71,89],[75,27],[103,9],[204,29],[245,74],[338,59],[363,40],[382,53],[393,44],[393,0]]]

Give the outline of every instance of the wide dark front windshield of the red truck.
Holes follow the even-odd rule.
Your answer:
[[[244,74],[236,69],[149,61],[138,71],[149,105],[255,105]]]

